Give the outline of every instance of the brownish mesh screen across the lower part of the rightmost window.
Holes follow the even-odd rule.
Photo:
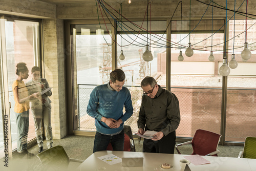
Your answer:
[[[226,141],[244,142],[245,137],[256,137],[255,90],[228,90]]]

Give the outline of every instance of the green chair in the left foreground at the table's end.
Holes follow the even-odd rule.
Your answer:
[[[69,163],[79,162],[83,160],[69,158],[65,149],[61,145],[57,145],[41,152],[37,155],[44,170],[67,170]]]

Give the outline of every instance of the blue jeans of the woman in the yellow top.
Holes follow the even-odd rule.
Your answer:
[[[29,132],[29,110],[23,113],[15,113],[17,124],[17,152],[27,149]]]

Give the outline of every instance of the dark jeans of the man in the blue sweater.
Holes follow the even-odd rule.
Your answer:
[[[119,134],[112,136],[96,132],[93,153],[106,150],[109,143],[111,143],[113,151],[123,151],[124,131],[122,130]]]

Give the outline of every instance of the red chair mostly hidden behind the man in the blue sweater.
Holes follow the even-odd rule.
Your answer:
[[[124,144],[123,144],[123,151],[125,152],[135,152],[134,140],[133,140],[133,133],[132,129],[128,125],[123,126],[124,129]],[[109,143],[106,150],[113,151],[113,147],[111,143]]]

